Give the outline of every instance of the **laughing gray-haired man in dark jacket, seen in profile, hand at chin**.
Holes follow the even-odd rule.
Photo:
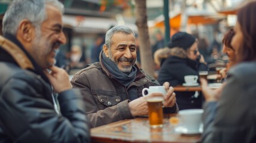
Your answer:
[[[0,142],[90,142],[81,94],[66,71],[53,66],[55,50],[66,42],[62,13],[57,0],[14,0],[5,13]]]

